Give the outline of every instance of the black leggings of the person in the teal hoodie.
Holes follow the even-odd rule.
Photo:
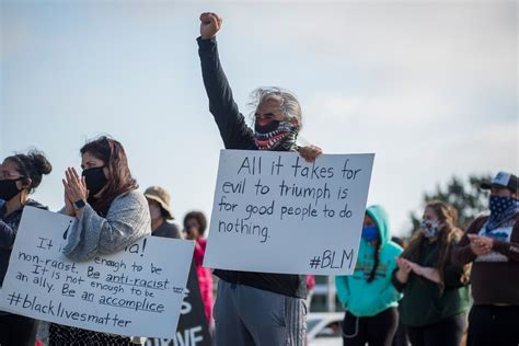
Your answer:
[[[343,345],[391,346],[399,326],[399,311],[390,308],[371,318],[357,318],[347,312],[343,321]]]

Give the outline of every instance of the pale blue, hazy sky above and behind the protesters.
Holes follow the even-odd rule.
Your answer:
[[[37,148],[54,170],[34,198],[109,135],[176,222],[212,207],[223,148],[208,111],[199,14],[223,18],[220,59],[242,113],[251,91],[298,96],[301,143],[374,152],[368,204],[392,230],[452,175],[518,173],[518,2],[0,1],[0,158]]]

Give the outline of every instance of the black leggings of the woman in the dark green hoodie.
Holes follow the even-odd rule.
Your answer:
[[[413,346],[459,346],[465,325],[465,314],[459,314],[435,324],[407,327],[407,335]]]

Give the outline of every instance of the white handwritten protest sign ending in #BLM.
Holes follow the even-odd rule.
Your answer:
[[[351,274],[373,158],[222,150],[204,265]]]

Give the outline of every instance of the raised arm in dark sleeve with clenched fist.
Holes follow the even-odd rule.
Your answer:
[[[220,65],[216,34],[221,24],[221,18],[215,13],[200,15],[198,55],[204,85],[209,97],[209,111],[215,117],[227,149],[255,149],[254,134],[246,126],[245,118],[232,97],[231,86]]]

